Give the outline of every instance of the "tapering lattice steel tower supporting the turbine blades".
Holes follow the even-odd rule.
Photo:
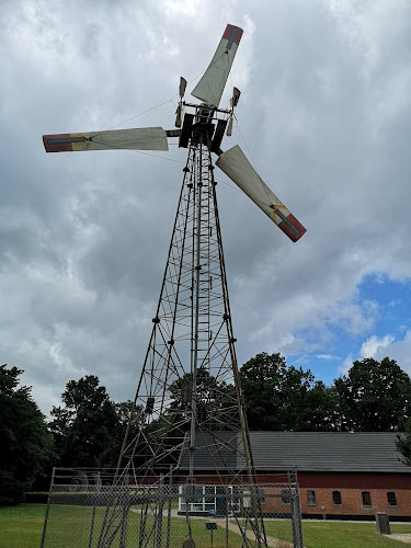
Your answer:
[[[196,476],[213,470],[212,482],[218,477],[218,483],[230,494],[226,512],[235,514],[232,487],[241,487],[241,493],[244,484],[253,489],[255,473],[218,218],[212,161],[214,115],[216,112],[204,105],[196,107],[190,124],[187,163],[134,402],[138,433],[133,439],[126,436],[121,459],[125,466],[116,483],[175,486],[175,481],[183,480],[185,504],[190,505],[195,501]],[[160,523],[163,513],[161,495],[147,501],[141,532],[147,541],[159,529],[165,534]],[[110,546],[113,529],[121,534],[121,498],[113,504],[105,525],[101,546]],[[242,513],[240,529],[244,546],[265,546],[258,504],[246,515]],[[254,533],[250,538],[248,530]]]

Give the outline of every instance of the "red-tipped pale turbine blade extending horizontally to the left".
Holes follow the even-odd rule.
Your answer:
[[[162,127],[139,127],[78,134],[43,135],[46,152],[80,150],[169,150]]]

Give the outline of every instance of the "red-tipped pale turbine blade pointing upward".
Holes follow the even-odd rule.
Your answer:
[[[193,96],[212,106],[219,105],[241,36],[242,28],[227,25],[212,62],[191,93]]]

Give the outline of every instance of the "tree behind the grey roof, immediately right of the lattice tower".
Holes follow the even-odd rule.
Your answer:
[[[240,369],[250,430],[335,430],[333,390],[315,381],[312,373],[287,367],[281,354],[265,352]]]

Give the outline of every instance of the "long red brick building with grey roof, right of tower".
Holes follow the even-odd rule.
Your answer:
[[[375,520],[387,512],[390,521],[411,521],[411,468],[400,461],[396,433],[251,432],[250,438],[259,482],[297,471],[304,517]]]

